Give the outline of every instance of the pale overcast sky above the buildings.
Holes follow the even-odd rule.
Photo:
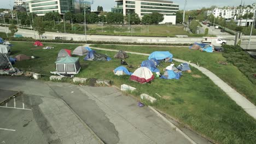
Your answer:
[[[10,8],[9,4],[14,5],[15,0],[0,0],[0,8]],[[23,0],[25,1],[25,0]],[[179,4],[179,9],[184,8],[185,0],[173,0],[174,3]],[[246,5],[256,3],[256,0],[243,0]],[[242,2],[242,4],[243,4]],[[114,0],[94,0],[92,10],[96,10],[98,5],[102,5],[103,9],[110,11],[116,3]],[[237,6],[241,4],[241,0],[188,0],[186,10],[201,9],[202,7],[211,7],[211,5],[223,6]]]

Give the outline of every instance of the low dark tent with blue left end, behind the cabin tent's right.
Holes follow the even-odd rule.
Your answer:
[[[89,51],[88,54],[84,57],[84,61],[110,61],[111,58],[107,55],[101,53],[96,53],[96,51]]]

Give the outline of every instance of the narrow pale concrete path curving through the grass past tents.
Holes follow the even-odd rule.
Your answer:
[[[89,46],[85,45],[85,46]],[[96,50],[104,50],[104,51],[118,51],[118,50],[109,50],[109,49],[102,49],[96,47],[90,47],[91,49]],[[147,53],[139,53],[139,52],[130,52],[128,53],[136,54],[136,55],[143,55],[149,56]],[[181,62],[181,63],[189,63],[187,61],[183,61],[181,59],[173,58],[174,61]],[[208,76],[220,89],[222,89],[229,97],[236,102],[237,105],[241,106],[243,110],[245,110],[250,116],[256,119],[256,106],[251,103],[251,101],[247,100],[243,95],[236,92],[234,88],[230,87],[227,83],[225,83],[222,79],[220,79],[217,75],[213,74],[210,70],[199,67],[194,63],[189,63],[192,67],[200,70],[203,74]]]

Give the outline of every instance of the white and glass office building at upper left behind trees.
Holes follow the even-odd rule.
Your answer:
[[[91,11],[91,1],[89,0],[26,0],[26,9],[28,13],[45,15],[46,13],[57,12],[65,14],[84,13]]]

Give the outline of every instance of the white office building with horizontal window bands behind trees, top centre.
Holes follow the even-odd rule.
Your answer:
[[[123,13],[124,16],[131,13],[138,14],[139,17],[153,12],[164,14],[162,23],[176,24],[176,13],[179,5],[167,0],[115,0],[117,5],[111,9],[113,13]]]

